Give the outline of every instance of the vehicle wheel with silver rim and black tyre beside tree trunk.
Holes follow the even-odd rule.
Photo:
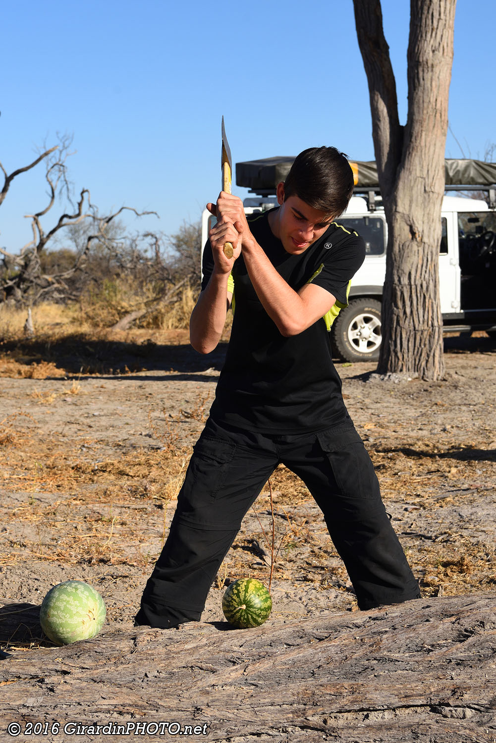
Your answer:
[[[332,325],[335,352],[344,361],[376,361],[381,345],[381,302],[352,299]]]

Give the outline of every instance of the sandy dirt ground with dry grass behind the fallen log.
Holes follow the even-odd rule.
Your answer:
[[[143,331],[0,351],[0,604],[40,604],[53,585],[85,580],[106,602],[107,629],[132,626],[225,344],[202,357],[180,331]],[[373,364],[338,364],[425,595],[495,587],[495,361],[495,340],[479,334],[445,340],[447,377],[439,383],[381,380]],[[303,483],[280,467],[271,490],[272,618],[355,610]],[[268,493],[266,486],[257,513],[245,517],[203,620],[223,618],[230,580],[249,575],[268,584]]]

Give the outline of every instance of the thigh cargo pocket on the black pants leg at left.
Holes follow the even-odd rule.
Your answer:
[[[225,481],[236,444],[230,444],[220,438],[200,438],[193,447],[190,461],[191,475],[196,488],[215,500],[219,489]]]

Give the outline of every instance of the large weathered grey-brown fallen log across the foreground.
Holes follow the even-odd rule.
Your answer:
[[[26,611],[30,620],[16,622],[31,622],[34,637],[36,609]],[[2,636],[13,629],[12,612],[0,610]],[[58,735],[42,736],[48,741],[62,740],[70,723],[91,726],[85,739],[106,741],[136,734],[138,724],[161,724],[167,735],[166,723],[181,739],[230,742],[496,741],[492,594],[256,629],[189,623],[102,632],[64,647],[16,650],[15,642],[4,643],[10,656],[0,661],[0,736],[16,721],[23,730],[57,722]],[[153,737],[161,728],[139,730]]]

